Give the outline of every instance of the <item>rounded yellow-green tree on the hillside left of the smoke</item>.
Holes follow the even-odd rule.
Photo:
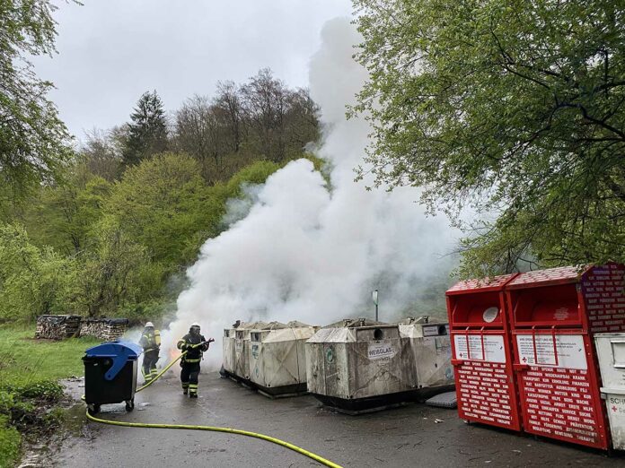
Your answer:
[[[163,153],[127,169],[105,212],[130,238],[148,247],[155,262],[177,270],[197,256],[198,232],[204,240],[216,235],[224,202],[209,195],[198,161]]]

